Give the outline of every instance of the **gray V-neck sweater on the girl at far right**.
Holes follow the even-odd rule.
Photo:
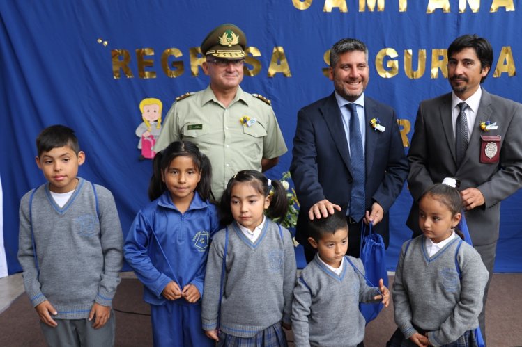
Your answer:
[[[395,323],[408,339],[413,325],[428,330],[429,341],[440,346],[477,328],[489,274],[477,251],[460,238],[428,256],[424,236],[402,245],[393,284]],[[408,246],[409,243],[409,246]],[[407,248],[407,251],[406,251]]]

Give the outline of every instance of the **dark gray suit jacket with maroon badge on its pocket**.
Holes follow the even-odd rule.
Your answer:
[[[482,88],[477,119],[466,156],[457,168],[452,124],[451,93],[420,103],[415,132],[408,152],[408,186],[413,207],[408,227],[420,234],[418,205],[422,193],[445,177],[460,179],[460,189],[478,188],[486,203],[466,212],[466,222],[474,245],[487,245],[498,239],[500,201],[522,185],[522,104],[491,95]],[[482,131],[480,122],[496,122],[498,129]],[[480,163],[481,135],[500,135],[500,161]]]

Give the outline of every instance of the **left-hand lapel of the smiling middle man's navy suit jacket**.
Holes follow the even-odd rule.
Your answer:
[[[328,100],[321,106],[321,113],[325,120],[326,127],[330,131],[332,136],[332,142],[335,143],[341,158],[343,159],[344,165],[351,172],[350,166],[350,154],[348,152],[348,142],[346,141],[346,133],[344,132],[344,124],[342,121],[341,111],[335,94],[332,93]]]

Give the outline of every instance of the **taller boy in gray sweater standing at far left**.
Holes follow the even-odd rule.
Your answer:
[[[48,183],[20,202],[18,260],[49,346],[113,346],[112,298],[123,234],[110,191],[77,177],[85,160],[74,131],[54,125],[36,139]]]

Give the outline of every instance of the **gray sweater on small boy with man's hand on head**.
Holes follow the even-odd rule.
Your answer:
[[[293,289],[292,330],[295,345],[357,346],[364,339],[366,321],[359,302],[378,302],[377,287],[369,287],[360,259],[345,257],[337,275],[318,258],[301,272]]]

